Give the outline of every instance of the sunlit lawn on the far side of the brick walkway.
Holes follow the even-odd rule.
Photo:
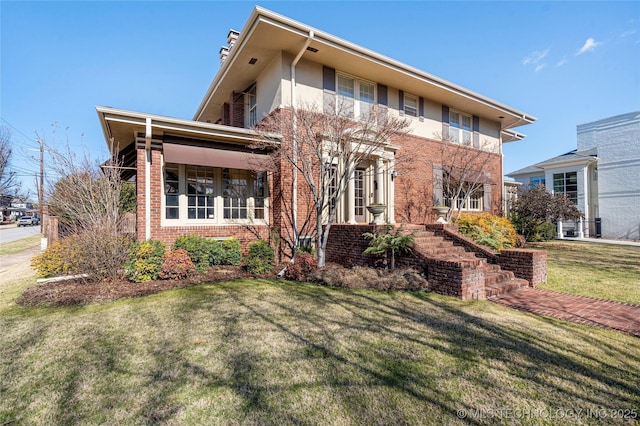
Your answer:
[[[547,251],[539,288],[640,304],[640,247],[578,241],[538,243]]]

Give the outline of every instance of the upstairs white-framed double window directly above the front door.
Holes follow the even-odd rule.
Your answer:
[[[337,112],[344,117],[368,119],[376,99],[375,84],[343,73],[336,73],[336,78]]]

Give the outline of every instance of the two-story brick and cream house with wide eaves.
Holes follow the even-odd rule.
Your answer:
[[[336,216],[337,223],[352,224],[371,221],[362,207],[372,203],[386,205],[385,217],[396,223],[412,219],[416,202],[435,202],[439,194],[433,180],[442,170],[437,159],[442,144],[490,153],[483,186],[462,208],[499,213],[502,144],[522,139],[513,129],[535,121],[510,106],[260,7],[241,31],[229,32],[228,47],[220,55],[220,69],[192,120],[97,108],[125,177],[135,176],[138,239],[171,244],[193,233],[234,236],[246,246],[274,229],[290,235],[285,220],[290,202],[273,195],[291,185],[291,165],[274,163],[269,152],[252,148],[260,139],[254,126],[283,109],[312,104],[321,108],[327,99],[340,96],[352,102],[355,115],[373,104],[409,121],[408,134],[358,165]],[[405,160],[398,161],[400,157]],[[305,207],[299,206],[299,214]]]

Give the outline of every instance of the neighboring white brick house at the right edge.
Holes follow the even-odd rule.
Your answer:
[[[567,194],[584,213],[585,236],[640,239],[640,111],[580,124],[577,133],[577,149],[507,176]],[[572,225],[565,234],[579,233]]]

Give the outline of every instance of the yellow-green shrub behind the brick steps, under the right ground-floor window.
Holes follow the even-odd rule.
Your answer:
[[[492,214],[466,215],[456,219],[460,233],[494,250],[515,247],[517,234],[511,222]]]

